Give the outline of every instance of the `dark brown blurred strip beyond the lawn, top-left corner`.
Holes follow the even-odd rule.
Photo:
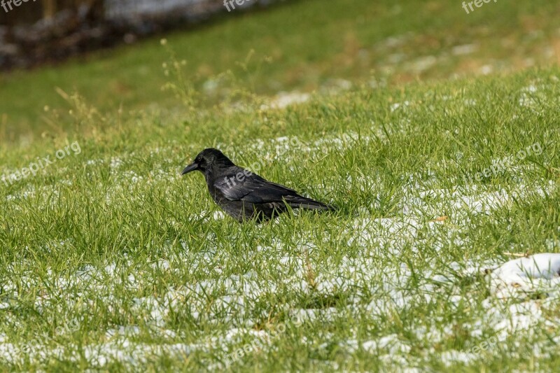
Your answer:
[[[226,10],[221,0],[25,1],[18,6],[5,1],[2,5],[0,69],[25,68],[119,42],[133,43],[138,37],[209,20]],[[255,4],[247,1],[236,8]]]

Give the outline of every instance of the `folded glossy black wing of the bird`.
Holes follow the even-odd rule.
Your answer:
[[[295,190],[267,181],[257,174],[246,176],[242,181],[238,181],[236,175],[231,174],[214,182],[214,188],[230,201],[281,202],[283,197],[297,195]]]

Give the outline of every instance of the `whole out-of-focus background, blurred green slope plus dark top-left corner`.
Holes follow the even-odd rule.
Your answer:
[[[0,143],[83,131],[71,115],[78,102],[99,118],[180,111],[162,90],[177,73],[211,106],[239,87],[288,102],[560,61],[556,0],[491,1],[470,12],[455,0],[239,3],[4,1]]]

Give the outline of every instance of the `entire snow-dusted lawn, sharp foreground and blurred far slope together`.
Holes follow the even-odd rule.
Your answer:
[[[560,253],[558,5],[329,4],[1,78],[0,370],[557,370],[558,288],[489,272]],[[237,223],[208,147],[339,210]]]

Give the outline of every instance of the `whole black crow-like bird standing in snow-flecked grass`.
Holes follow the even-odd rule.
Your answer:
[[[288,208],[335,210],[333,206],[302,197],[293,189],[236,166],[220,150],[202,150],[181,174],[195,170],[204,174],[214,202],[239,221],[254,218],[262,222],[275,218]]]

